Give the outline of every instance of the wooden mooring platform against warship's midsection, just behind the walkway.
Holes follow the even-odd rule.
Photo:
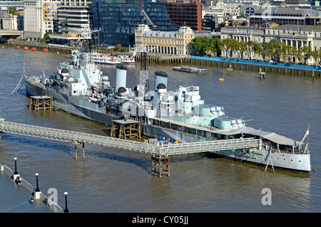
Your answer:
[[[118,138],[129,139],[133,137],[141,138],[141,122],[136,120],[113,120],[113,124],[111,125],[111,137],[113,135],[116,136],[118,134]]]

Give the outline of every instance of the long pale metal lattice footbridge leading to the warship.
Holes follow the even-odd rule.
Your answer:
[[[243,149],[260,147],[261,139],[225,139],[207,142],[188,142],[182,144],[164,144],[161,142],[138,142],[133,140],[106,137],[98,134],[58,130],[49,127],[25,125],[14,122],[0,122],[0,131],[21,134],[31,137],[40,137],[64,142],[80,142],[95,144],[103,147],[114,147],[159,156],[171,154],[189,154],[196,152],[213,152],[218,150]]]

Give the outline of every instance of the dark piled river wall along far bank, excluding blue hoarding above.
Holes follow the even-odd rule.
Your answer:
[[[78,49],[78,47],[71,47],[66,45],[58,45],[58,44],[44,44],[44,43],[35,43],[31,41],[22,41],[22,40],[14,40],[10,39],[7,42],[8,46],[15,48],[19,46],[20,48],[24,48],[25,46],[28,48],[37,48],[37,50],[42,51],[45,48],[50,52],[56,53],[68,53],[70,54],[72,50]],[[108,53],[112,56],[132,56],[133,51],[131,52],[117,52],[117,51],[108,51],[108,50],[93,50],[98,53]],[[137,53],[135,56],[136,62],[141,62],[141,54]],[[200,60],[200,59],[191,59],[188,56],[177,56],[177,55],[165,55],[160,53],[148,53],[148,64],[150,65],[197,65],[202,67],[216,67],[216,68],[231,68],[235,70],[250,70],[255,72],[262,73],[275,73],[280,75],[293,75],[293,76],[302,76],[307,78],[320,79],[321,78],[321,70],[313,71],[313,70],[305,70],[305,69],[297,69],[297,68],[282,68],[276,66],[268,66],[268,65],[251,65],[245,63],[230,63],[230,62],[222,62],[217,60]]]

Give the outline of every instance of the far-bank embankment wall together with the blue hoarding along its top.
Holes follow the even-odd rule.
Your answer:
[[[14,40],[8,41],[8,46],[29,49],[36,48],[38,51],[48,49],[50,52],[68,53],[78,47],[57,44],[44,44],[32,41]],[[132,56],[133,51],[118,52],[110,50],[98,50],[99,53],[108,53],[113,56]],[[141,54],[135,56],[137,62],[141,61]],[[250,70],[264,73],[276,73],[280,75],[296,75],[308,78],[321,78],[321,68],[312,65],[296,65],[288,63],[270,63],[262,60],[243,60],[235,58],[220,58],[208,56],[178,56],[161,53],[148,53],[148,64],[151,65],[198,65],[203,67],[232,68],[233,70]]]

